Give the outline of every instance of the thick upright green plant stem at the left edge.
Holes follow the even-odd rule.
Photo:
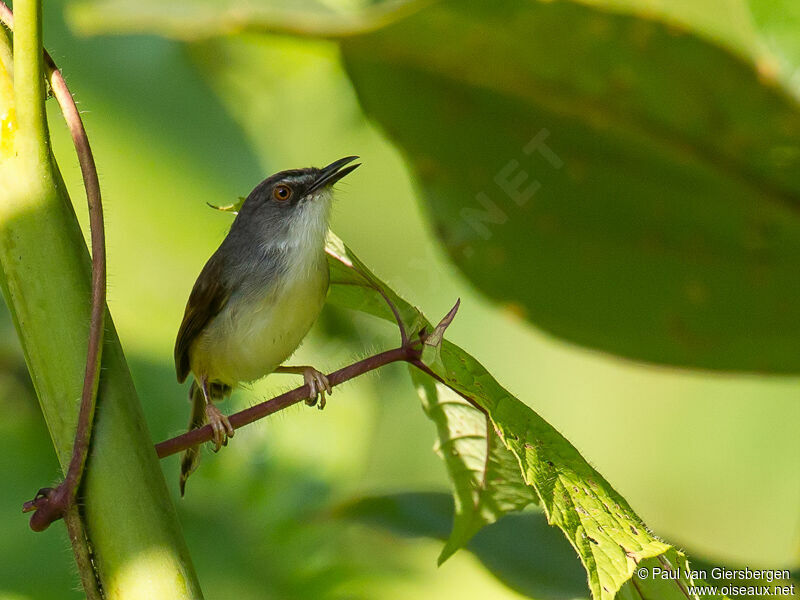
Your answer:
[[[50,155],[41,11],[33,0],[17,0],[15,8],[16,106],[10,108],[16,109],[17,120],[9,144],[4,140],[0,153],[0,284],[66,471],[83,387],[91,267],[72,204]],[[3,77],[6,81],[0,81],[0,88],[8,84],[5,69],[0,70]],[[0,97],[3,102],[8,98]],[[6,108],[0,106],[0,114],[9,112]],[[81,510],[93,549],[91,563],[105,597],[201,598],[108,315],[98,414],[86,465]],[[72,534],[75,529],[69,528]],[[82,576],[87,573],[81,569]]]

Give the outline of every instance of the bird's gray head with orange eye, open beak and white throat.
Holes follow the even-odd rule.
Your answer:
[[[347,156],[318,169],[281,171],[259,183],[242,204],[231,233],[246,233],[266,245],[322,243],[328,227],[333,184],[360,164]]]

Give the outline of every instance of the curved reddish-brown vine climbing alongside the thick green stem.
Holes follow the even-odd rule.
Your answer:
[[[13,31],[14,15],[8,6],[1,1],[0,21],[9,30]],[[47,529],[50,523],[64,516],[69,506],[75,501],[78,487],[83,477],[86,457],[89,452],[89,442],[91,441],[92,423],[97,400],[97,385],[100,378],[106,307],[105,228],[97,168],[95,167],[89,138],[83,127],[78,107],[75,105],[61,71],[58,70],[46,50],[44,50],[44,61],[50,88],[61,107],[61,113],[69,127],[70,135],[75,145],[81,174],[83,175],[83,185],[86,188],[92,245],[92,308],[89,324],[89,343],[86,352],[86,369],[84,371],[78,425],[75,430],[75,442],[72,447],[72,458],[64,481],[56,489],[45,488],[40,490],[34,500],[25,503],[24,511],[34,511],[30,522],[34,531]]]

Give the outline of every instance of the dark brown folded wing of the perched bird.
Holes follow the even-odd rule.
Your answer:
[[[186,303],[186,312],[175,340],[175,371],[183,383],[189,374],[189,347],[203,328],[225,306],[230,290],[222,282],[222,262],[211,259],[203,267]]]

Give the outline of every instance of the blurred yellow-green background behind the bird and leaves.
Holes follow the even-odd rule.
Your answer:
[[[657,535],[714,564],[800,564],[797,375],[649,366],[571,345],[514,303],[490,300],[437,240],[419,182],[364,115],[337,43],[252,32],[81,36],[66,8],[46,3],[45,44],[95,151],[109,306],[155,441],[185,427],[173,343],[191,286],[231,221],[206,203],[229,204],[278,170],[358,154],[364,166],[338,186],[332,229],[432,319],[460,297],[450,339],[563,433]],[[78,165],[48,105],[85,226]],[[4,308],[0,328],[0,598],[78,598],[63,528],[33,534],[20,514],[59,471]],[[383,323],[326,309],[295,362],[330,371],[395,337]],[[270,376],[224,408],[297,384]],[[337,389],[324,412],[284,411],[206,453],[185,499],[177,458],[163,461],[207,597],[522,597],[466,551],[437,568],[441,542],[334,516],[358,497],[447,491],[433,442],[407,374],[390,366]]]

